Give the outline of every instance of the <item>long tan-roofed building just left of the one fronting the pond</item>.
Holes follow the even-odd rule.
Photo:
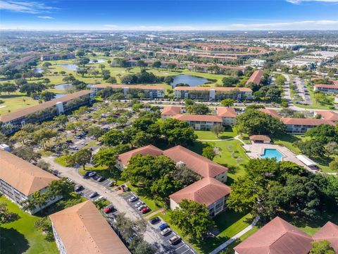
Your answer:
[[[111,89],[116,90],[116,92],[122,92],[123,95],[132,95],[132,97],[137,97],[139,92],[144,94],[145,98],[156,99],[164,98],[165,96],[165,87],[164,85],[94,85],[92,90],[96,93],[99,90],[111,87]]]

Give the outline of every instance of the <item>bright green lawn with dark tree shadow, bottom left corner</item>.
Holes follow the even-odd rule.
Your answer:
[[[5,202],[8,210],[15,212],[20,217],[15,222],[1,225],[1,253],[58,253],[56,243],[54,241],[46,241],[45,236],[34,229],[34,222],[39,217],[23,212],[18,205],[15,205],[4,196],[0,198],[0,202]]]

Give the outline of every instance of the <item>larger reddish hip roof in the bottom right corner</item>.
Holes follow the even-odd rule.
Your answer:
[[[280,217],[239,243],[238,254],[308,254],[313,239]]]

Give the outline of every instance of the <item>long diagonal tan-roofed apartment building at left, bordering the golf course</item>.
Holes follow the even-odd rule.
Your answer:
[[[94,92],[82,90],[71,95],[66,95],[58,99],[52,99],[32,107],[20,109],[10,114],[0,116],[1,128],[6,135],[20,130],[21,126],[27,123],[39,123],[54,116],[72,111],[77,107],[91,104],[94,101]]]

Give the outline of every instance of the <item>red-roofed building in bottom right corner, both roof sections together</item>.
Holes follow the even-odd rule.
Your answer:
[[[308,254],[313,241],[327,240],[335,252],[338,251],[338,226],[327,222],[312,237],[280,217],[234,247],[235,254]]]

